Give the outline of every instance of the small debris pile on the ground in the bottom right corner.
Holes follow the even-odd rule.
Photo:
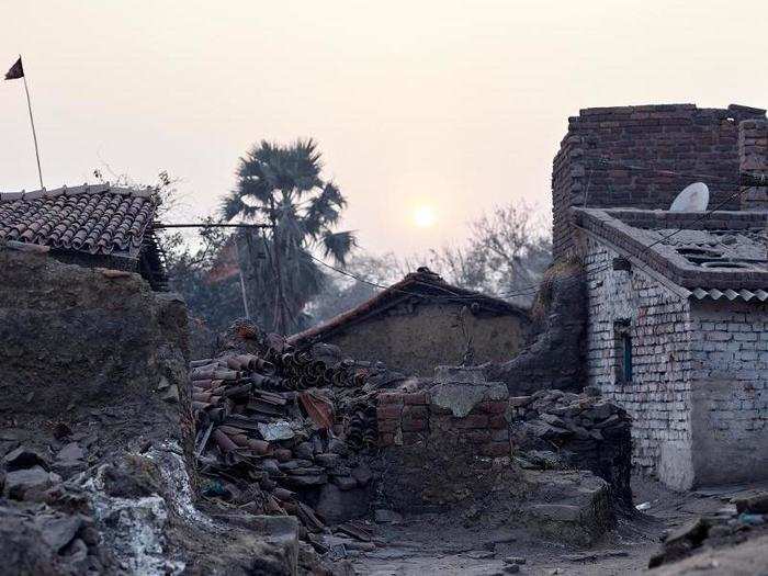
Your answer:
[[[666,534],[648,567],[677,562],[704,549],[731,546],[768,533],[768,492],[731,498],[716,513]]]

